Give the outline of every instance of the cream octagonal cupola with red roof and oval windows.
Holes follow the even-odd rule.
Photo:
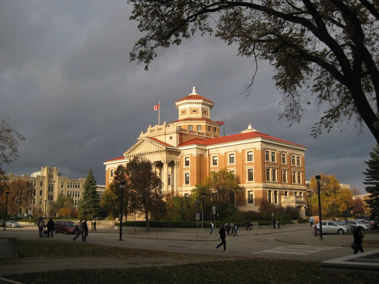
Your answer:
[[[210,110],[214,102],[196,93],[196,88],[192,88],[192,93],[175,101],[175,107],[179,111],[178,119],[204,118],[210,119]]]

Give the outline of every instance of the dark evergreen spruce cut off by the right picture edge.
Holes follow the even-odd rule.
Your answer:
[[[366,200],[368,207],[371,209],[371,218],[374,220],[379,219],[379,145],[373,148],[374,151],[370,152],[371,159],[365,163],[368,165],[364,184],[368,184],[366,192],[369,193],[370,199]]]

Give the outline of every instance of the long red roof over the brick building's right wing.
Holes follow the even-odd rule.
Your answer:
[[[229,136],[224,136],[224,137],[218,137],[218,138],[212,138],[212,139],[207,139],[207,140],[201,139],[201,138],[195,138],[195,139],[192,139],[192,140],[189,140],[189,141],[186,141],[186,142],[180,144],[178,147],[186,146],[186,145],[192,145],[192,144],[201,144],[201,145],[207,145],[208,146],[208,145],[222,144],[222,143],[228,143],[228,142],[245,140],[245,139],[252,139],[252,138],[256,138],[256,137],[263,137],[263,138],[267,138],[267,139],[272,139],[272,140],[276,140],[276,141],[280,141],[280,142],[286,142],[286,143],[290,143],[290,144],[294,144],[294,145],[304,147],[304,145],[300,145],[297,143],[293,143],[293,142],[290,142],[287,140],[279,139],[279,138],[276,138],[273,136],[269,136],[268,134],[255,132],[255,131],[246,132],[246,133],[239,133],[239,134],[234,134],[234,135],[229,135]]]

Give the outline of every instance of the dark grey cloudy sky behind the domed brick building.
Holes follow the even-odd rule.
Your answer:
[[[333,174],[363,190],[362,171],[376,145],[350,125],[340,132],[309,136],[319,119],[311,108],[301,123],[278,120],[281,95],[274,70],[260,62],[252,94],[243,86],[254,62],[237,48],[211,36],[196,36],[179,47],[158,51],[149,71],[129,62],[137,23],[128,20],[125,1],[0,2],[0,116],[27,138],[7,173],[28,174],[43,166],[63,176],[85,178],[92,167],[105,183],[107,159],[121,156],[141,131],[158,123],[153,105],[161,102],[161,123],[178,118],[174,101],[192,92],[215,102],[211,119],[225,117],[226,135],[252,127],[302,144],[306,176]],[[223,128],[221,127],[221,133]]]

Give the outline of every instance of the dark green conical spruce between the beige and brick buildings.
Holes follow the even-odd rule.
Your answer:
[[[83,186],[83,193],[79,204],[79,215],[82,218],[95,218],[100,216],[100,196],[96,189],[96,179],[92,173],[92,169],[89,169],[88,176]],[[86,209],[86,210],[84,210]],[[84,214],[85,211],[85,214]]]

